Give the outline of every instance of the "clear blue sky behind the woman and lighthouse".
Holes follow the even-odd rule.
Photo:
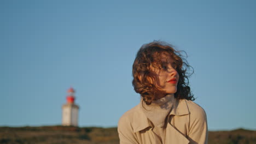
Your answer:
[[[188,53],[210,130],[256,129],[255,1],[0,1],[0,125],[115,127],[139,102],[132,63],[164,40]]]

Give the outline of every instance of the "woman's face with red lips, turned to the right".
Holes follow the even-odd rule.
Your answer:
[[[175,61],[167,53],[161,53],[160,62],[151,67],[149,81],[152,82],[160,91],[166,94],[177,92],[179,74],[176,71]]]

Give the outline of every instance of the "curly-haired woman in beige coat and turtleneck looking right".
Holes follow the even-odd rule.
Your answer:
[[[206,113],[193,102],[189,68],[169,44],[153,41],[139,49],[132,84],[141,102],[119,120],[121,144],[207,143]]]

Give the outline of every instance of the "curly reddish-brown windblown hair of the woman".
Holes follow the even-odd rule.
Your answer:
[[[174,66],[179,74],[179,81],[177,83],[177,92],[174,93],[176,99],[195,100],[194,95],[190,91],[188,77],[194,73],[194,69],[188,64],[187,53],[186,57],[181,52],[173,49],[173,46],[163,41],[153,41],[149,44],[142,45],[141,49],[137,52],[135,61],[132,65],[132,85],[136,93],[141,94],[143,100],[147,105],[150,105],[153,100],[157,99],[159,93],[165,93],[160,91],[152,82],[149,81],[149,77],[154,79],[150,75],[150,67],[158,67],[161,65],[162,53],[167,53],[168,56],[174,61]]]

